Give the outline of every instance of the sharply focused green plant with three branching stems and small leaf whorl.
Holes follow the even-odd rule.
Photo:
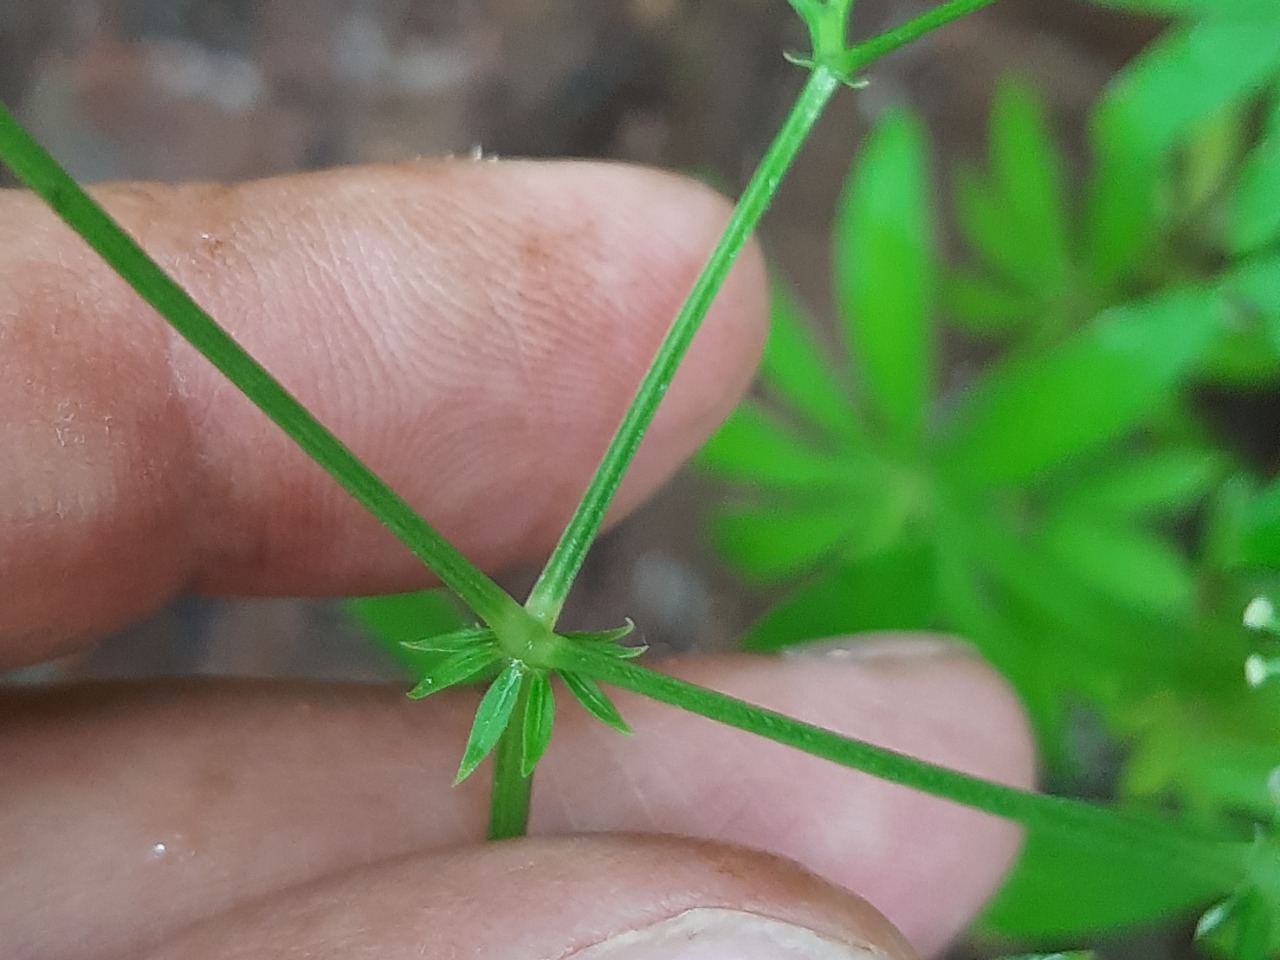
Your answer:
[[[557,621],[585,553],[658,402],[736,256],[755,229],[777,187],[841,87],[887,54],[991,0],[950,0],[865,42],[850,45],[852,0],[788,0],[808,28],[812,49],[790,59],[808,78],[778,134],[744,189],[733,214],[694,283],[635,399],[611,440],[564,534],[524,604],[480,572],[422,517],[365,467],[251,356],[205,314],[141,247],[0,108],[0,159],[40,195],[110,266],[225,374],[246,397],[398,536],[475,613],[479,623],[415,641],[435,654],[412,690],[428,696],[465,681],[495,675],[480,700],[463,749],[458,778],[494,754],[489,836],[525,832],[531,778],[552,736],[552,676],[595,717],[626,724],[602,684],[630,690],[833,763],[927,791],[1015,820],[1037,844],[1069,860],[1123,868],[1167,865],[1187,882],[1169,909],[1207,902],[1224,892],[1263,899],[1280,892],[1277,841],[1266,837],[1201,836],[1171,822],[1119,813],[1064,797],[1024,792],[838,736],[753,707],[635,662],[639,648],[618,644],[630,623],[614,630],[557,631]],[[1053,891],[1046,891],[1053,895]],[[1271,897],[1272,901],[1280,897]]]

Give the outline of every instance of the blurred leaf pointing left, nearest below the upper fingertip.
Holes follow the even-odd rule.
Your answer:
[[[833,453],[813,449],[756,403],[742,403],[703,445],[698,465],[714,477],[796,489],[838,484],[849,474]]]

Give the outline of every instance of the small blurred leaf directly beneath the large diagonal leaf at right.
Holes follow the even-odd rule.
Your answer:
[[[1226,466],[1222,453],[1207,447],[1125,457],[1082,476],[1057,497],[1057,506],[1129,517],[1179,513],[1207,497]]]

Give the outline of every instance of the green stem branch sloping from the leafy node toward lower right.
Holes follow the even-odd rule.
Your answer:
[[[737,727],[813,756],[869,773],[933,796],[970,806],[1024,827],[1051,832],[1075,846],[1123,851],[1129,859],[1194,869],[1219,890],[1242,877],[1242,846],[1196,836],[1164,819],[1138,817],[1066,797],[1032,794],[980,780],[895,750],[841,736],[714,690],[689,684],[581,646],[566,646],[559,669],[581,671],[596,681]]]

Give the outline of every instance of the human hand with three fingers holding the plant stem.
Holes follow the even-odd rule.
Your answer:
[[[726,216],[684,180],[585,164],[100,197],[486,568],[553,543]],[[618,512],[727,413],[764,315],[753,250]],[[0,195],[0,666],[65,653],[179,590],[424,584],[403,548],[18,193]],[[956,646],[892,637],[860,657],[669,669],[984,777],[1030,778],[1011,695]],[[296,684],[6,690],[0,956],[864,956],[836,946],[854,943],[904,957],[846,890],[932,952],[1016,845],[1007,823],[617,703],[635,736],[562,710],[535,786],[539,836],[481,845],[484,778],[449,786],[466,691],[410,704],[397,690]],[[699,925],[703,952],[690,952]]]

